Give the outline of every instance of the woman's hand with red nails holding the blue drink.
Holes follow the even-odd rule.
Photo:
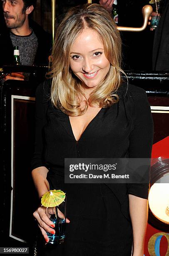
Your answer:
[[[49,219],[51,214],[54,214],[54,210],[52,207],[47,208],[47,215],[46,215],[46,207],[40,206],[37,210],[33,213],[34,218],[38,222],[38,226],[42,232],[45,241],[48,243],[49,238],[46,232],[51,234],[55,234],[55,224]],[[64,214],[58,209],[58,216],[62,219],[65,218]],[[70,223],[70,220],[66,218],[66,223]]]

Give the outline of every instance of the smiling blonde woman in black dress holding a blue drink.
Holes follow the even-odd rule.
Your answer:
[[[72,8],[52,51],[52,81],[36,92],[32,177],[39,198],[62,189],[67,238],[42,255],[142,256],[149,184],[65,184],[65,158],[149,158],[153,123],[144,90],[122,82],[121,39],[97,4]],[[34,212],[46,243],[55,233],[43,207]]]

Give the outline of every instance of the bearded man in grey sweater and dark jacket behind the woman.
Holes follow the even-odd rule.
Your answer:
[[[2,55],[1,66],[13,64],[13,46],[19,47],[22,65],[48,65],[52,38],[49,33],[28,17],[34,10],[35,3],[36,0],[2,0],[6,28],[1,36],[5,39],[2,39],[0,44],[3,44],[3,51],[8,54],[7,56]],[[4,79],[23,80],[24,76],[22,73],[12,73]]]

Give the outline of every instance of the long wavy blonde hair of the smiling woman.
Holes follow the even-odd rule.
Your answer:
[[[97,88],[85,101],[85,108],[80,108],[80,80],[70,69],[70,49],[77,36],[84,28],[91,28],[99,33],[104,45],[106,58],[110,62],[109,72],[97,85]],[[97,4],[79,5],[71,8],[57,29],[52,49],[51,100],[56,108],[67,115],[83,115],[88,104],[101,108],[112,106],[118,101],[117,88],[121,82],[121,38],[114,20],[105,8]]]

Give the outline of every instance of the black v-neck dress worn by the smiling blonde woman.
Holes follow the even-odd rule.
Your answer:
[[[129,194],[148,198],[149,184],[65,184],[65,158],[150,158],[153,121],[146,92],[122,83],[119,102],[102,108],[77,142],[69,116],[50,100],[50,82],[36,91],[32,169],[46,166],[50,189],[67,193],[66,240],[41,246],[43,256],[130,256]],[[41,251],[41,254],[40,254]]]

